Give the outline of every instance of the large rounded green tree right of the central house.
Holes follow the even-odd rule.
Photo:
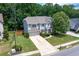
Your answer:
[[[69,17],[64,12],[57,12],[53,15],[54,33],[65,33],[69,30]]]

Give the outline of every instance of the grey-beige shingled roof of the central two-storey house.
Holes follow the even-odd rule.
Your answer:
[[[51,17],[47,17],[47,16],[26,17],[24,21],[26,21],[27,24],[50,23]]]

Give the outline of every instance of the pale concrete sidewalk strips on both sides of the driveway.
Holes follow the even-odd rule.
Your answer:
[[[68,46],[68,45],[71,45],[71,44],[74,44],[74,43],[77,43],[77,42],[79,42],[79,40],[75,40],[75,41],[71,41],[71,42],[68,42],[68,43],[56,45],[54,47],[60,48],[60,47]],[[35,51],[30,51],[30,52],[26,52],[26,53],[17,54],[17,55],[14,55],[14,56],[30,56],[30,55],[36,54],[36,53],[40,53],[40,51],[39,50],[35,50]]]

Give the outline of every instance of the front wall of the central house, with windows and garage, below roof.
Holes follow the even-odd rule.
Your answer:
[[[50,24],[29,24],[28,32],[40,33],[40,32],[52,32],[52,27]]]

